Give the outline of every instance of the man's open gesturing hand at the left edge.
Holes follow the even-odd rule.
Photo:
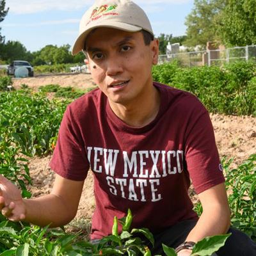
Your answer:
[[[26,208],[20,190],[0,174],[0,211],[11,221],[24,220]]]

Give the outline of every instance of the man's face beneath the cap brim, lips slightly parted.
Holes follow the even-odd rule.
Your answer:
[[[95,29],[86,39],[93,81],[111,104],[140,104],[152,86],[158,41],[145,45],[141,32]]]

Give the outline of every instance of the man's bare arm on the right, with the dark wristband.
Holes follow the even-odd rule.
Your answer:
[[[224,183],[209,188],[198,196],[203,212],[186,238],[186,241],[195,243],[207,236],[225,234],[230,227],[230,209]],[[188,250],[182,250],[179,255],[190,255],[186,252]]]

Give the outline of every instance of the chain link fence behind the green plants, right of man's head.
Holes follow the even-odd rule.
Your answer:
[[[195,52],[179,52],[175,54],[159,55],[159,64],[178,60],[181,65],[193,66],[212,66],[223,65],[236,60],[255,60],[256,45],[246,45],[244,47],[233,47],[225,50],[207,50]]]

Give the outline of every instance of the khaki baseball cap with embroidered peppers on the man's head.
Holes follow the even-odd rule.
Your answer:
[[[116,28],[137,32],[142,29],[154,36],[146,13],[130,0],[97,0],[80,22],[79,36],[72,48],[76,55],[84,49],[86,36],[95,28]]]

